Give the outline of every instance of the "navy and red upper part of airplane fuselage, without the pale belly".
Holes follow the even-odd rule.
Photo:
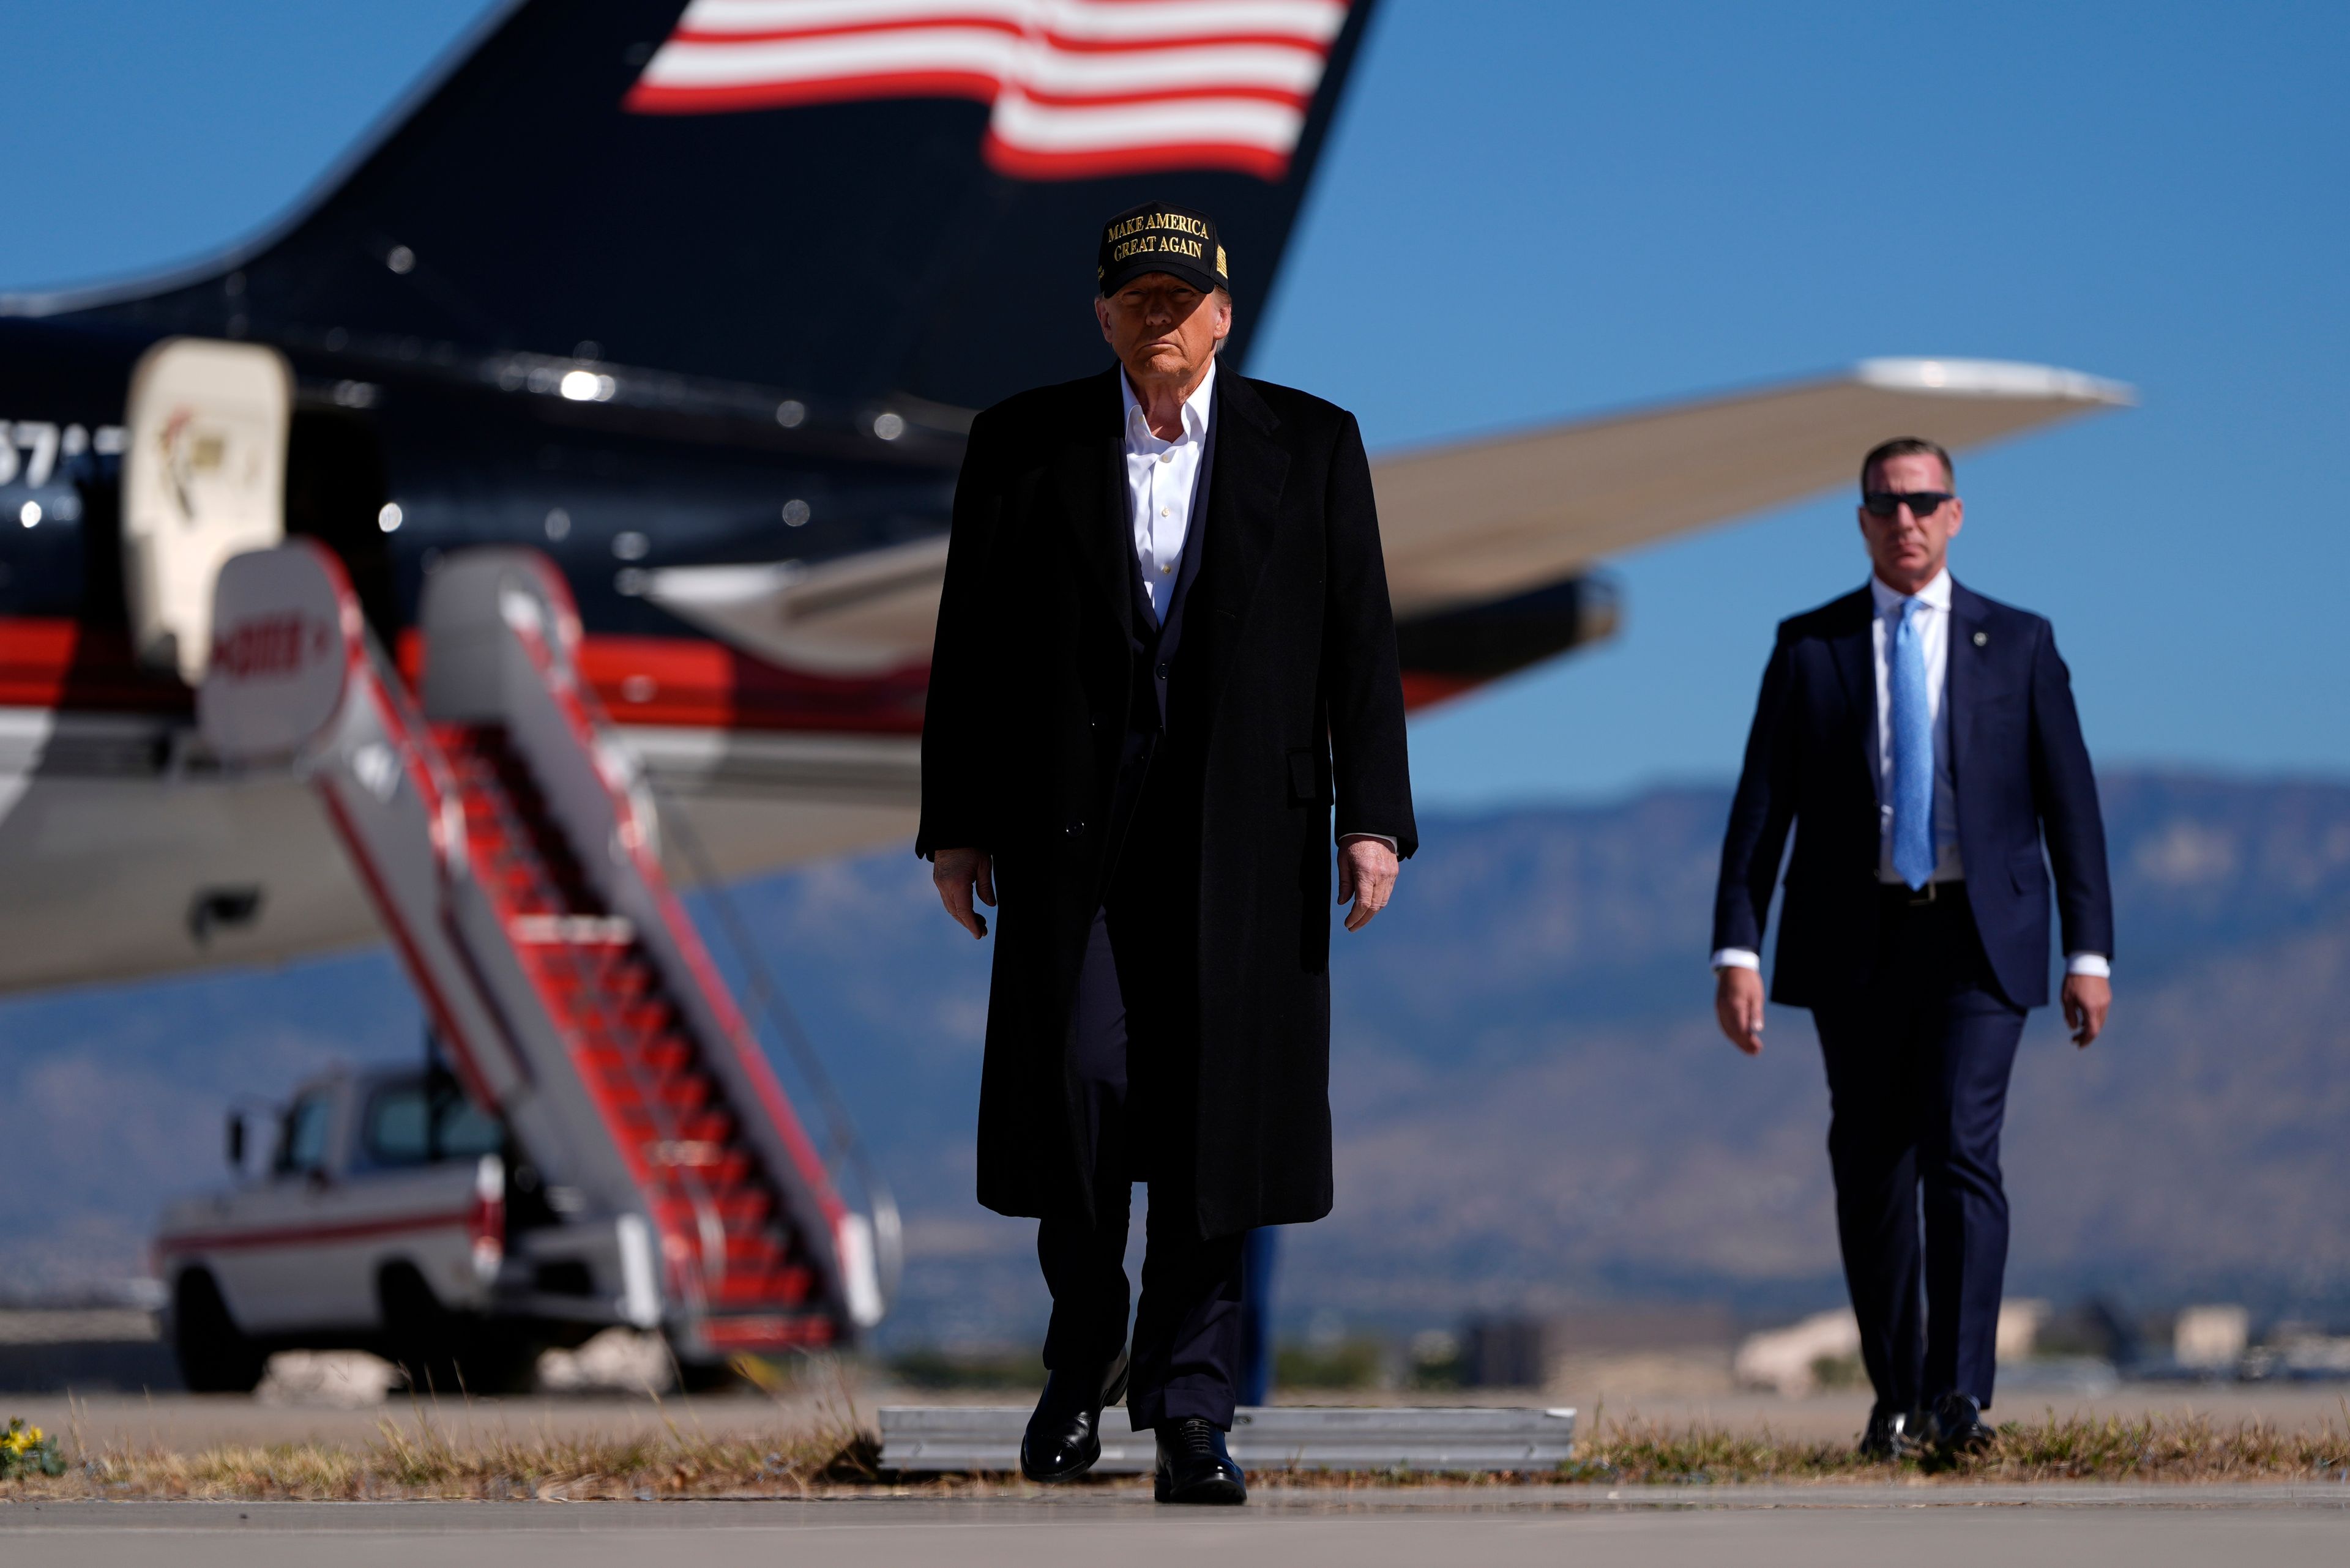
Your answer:
[[[40,651],[70,632],[80,684],[63,705],[186,708],[183,686],[146,677],[120,646],[118,451],[129,374],[153,341],[0,320],[0,423],[16,451],[0,520],[19,524],[0,536],[9,703],[38,691]],[[663,567],[822,564],[935,538],[961,461],[952,411],[825,407],[776,388],[595,360],[458,357],[416,341],[275,348],[296,378],[287,531],[343,559],[388,646],[439,555],[526,543],[571,581],[597,686],[620,722],[921,729],[919,663],[790,672],[731,654],[644,592]],[[42,461],[52,442],[59,451]],[[38,522],[21,522],[26,505]]]

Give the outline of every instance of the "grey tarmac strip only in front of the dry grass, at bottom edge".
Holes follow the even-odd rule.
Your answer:
[[[2350,1486],[1260,1490],[837,1502],[0,1505],[0,1561],[73,1568],[891,1568],[1274,1561],[1283,1568],[2263,1568],[2350,1561]]]

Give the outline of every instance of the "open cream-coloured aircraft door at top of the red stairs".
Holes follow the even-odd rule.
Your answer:
[[[284,538],[294,374],[258,343],[164,339],[132,371],[122,574],[132,646],[190,686],[212,658],[212,583]]]

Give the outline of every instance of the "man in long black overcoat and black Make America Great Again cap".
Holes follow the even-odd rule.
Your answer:
[[[921,736],[949,914],[996,905],[980,1201],[1053,1293],[1039,1481],[1121,1392],[1163,1502],[1241,1502],[1241,1255],[1330,1213],[1330,905],[1415,849],[1403,682],[1354,416],[1217,369],[1215,223],[1109,221],[1116,364],[971,425]],[[1133,1352],[1130,1185],[1149,1182]]]

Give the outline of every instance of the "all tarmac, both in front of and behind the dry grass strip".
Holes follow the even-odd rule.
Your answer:
[[[968,1396],[1003,1403],[1006,1394]],[[78,1448],[219,1443],[369,1443],[381,1422],[430,1418],[454,1439],[510,1434],[625,1436],[677,1425],[710,1436],[872,1425],[881,1403],[938,1403],[935,1392],[811,1380],[768,1396],[526,1396],[385,1403],[268,1403],[247,1396],[0,1396],[0,1408],[70,1434]],[[1450,1394],[1462,1401],[1462,1394]],[[1586,1420],[1770,1427],[1788,1439],[1849,1439],[1866,1396],[1640,1396],[1591,1389],[1490,1392],[1492,1403],[1579,1403]],[[1598,1406],[1598,1410],[1596,1410]],[[1995,1415],[2207,1415],[2216,1425],[2343,1425],[2324,1385],[2122,1385],[2099,1394],[2016,1389]],[[1116,1420],[1116,1415],[1112,1415]],[[1243,1509],[1168,1509],[1142,1483],[1069,1493],[827,1495],[745,1502],[7,1502],[0,1563],[75,1568],[884,1568],[971,1563],[1046,1568],[1116,1561],[1149,1568],[1213,1554],[1281,1568],[1934,1568],[2061,1563],[2169,1568],[2244,1561],[2263,1568],[2350,1563],[2350,1483],[2228,1486],[1504,1486],[1253,1490]]]

